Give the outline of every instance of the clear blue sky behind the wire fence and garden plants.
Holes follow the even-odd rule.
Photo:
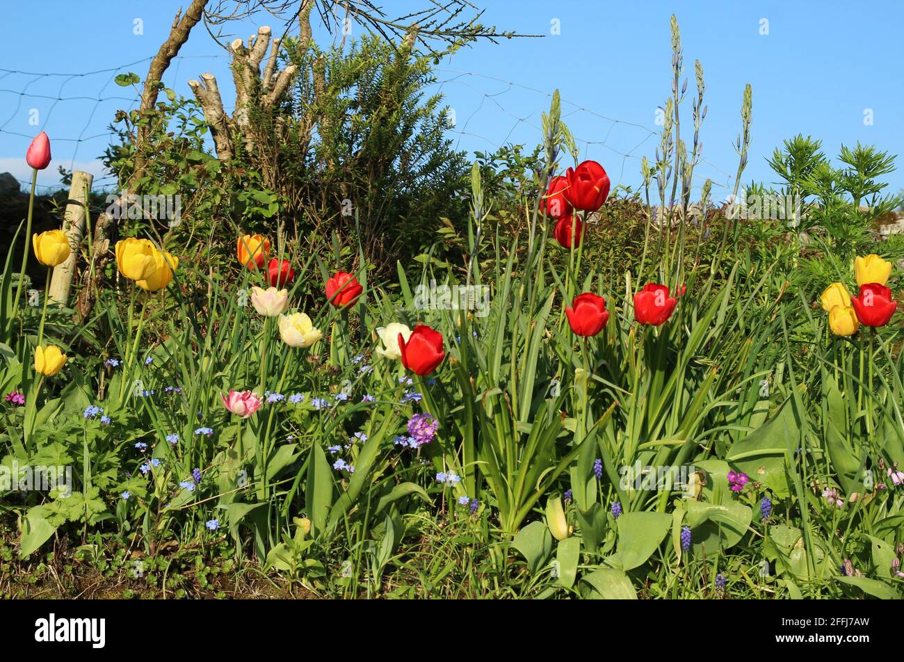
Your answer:
[[[425,3],[387,0],[384,5],[395,14],[397,6]],[[7,0],[7,43],[0,59],[0,172],[26,179],[25,149],[30,136],[44,129],[52,140],[54,161],[42,173],[40,184],[58,184],[56,165],[88,169],[103,177],[97,158],[107,144],[108,125],[116,109],[131,106],[135,94],[113,82],[117,71],[90,72],[121,67],[120,71],[136,71],[143,78],[175,11],[187,4]],[[656,107],[670,91],[669,17],[675,13],[689,90],[694,84],[694,59],[703,65],[709,110],[701,129],[705,162],[698,168],[696,184],[710,177],[715,198],[730,193],[733,183],[738,157],[732,144],[748,82],[753,87],[753,124],[745,182],[772,182],[765,158],[796,133],[821,138],[830,156],[842,144],[858,140],[904,154],[902,3],[873,2],[867,7],[832,0],[643,4],[484,0],[477,4],[486,7],[485,24],[542,36],[477,43],[438,65],[436,89],[455,110],[457,121],[450,137],[469,152],[493,150],[505,142],[535,144],[540,113],[548,109],[550,94],[558,88],[563,115],[579,138],[581,155],[602,163],[614,183],[636,186],[639,157],[652,156],[658,141]],[[230,32],[247,37],[259,24],[282,32],[281,24],[264,14]],[[553,34],[554,27],[560,33]],[[315,38],[323,45],[330,40],[316,28]],[[230,106],[229,59],[202,25],[195,28],[181,55],[166,72],[165,83],[190,95],[186,81],[212,71]],[[141,60],[145,61],[123,66]],[[44,73],[88,75],[34,75]],[[690,118],[690,110],[689,95],[683,118]],[[871,115],[871,124],[864,122],[864,113]],[[904,188],[904,171],[887,180],[893,191]]]

